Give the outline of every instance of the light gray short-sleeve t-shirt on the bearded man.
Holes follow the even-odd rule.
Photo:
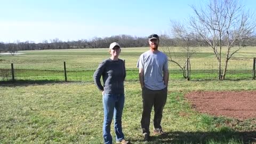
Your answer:
[[[161,52],[146,51],[140,55],[137,67],[144,70],[144,83],[150,90],[162,90],[164,85],[163,71],[168,70],[167,56]]]

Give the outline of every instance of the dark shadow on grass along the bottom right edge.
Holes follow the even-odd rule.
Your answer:
[[[142,140],[132,140],[142,143]],[[148,143],[256,143],[256,131],[252,132],[167,132],[165,136],[153,135]]]

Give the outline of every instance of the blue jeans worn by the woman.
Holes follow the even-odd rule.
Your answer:
[[[102,96],[104,121],[103,121],[103,139],[105,143],[112,144],[112,136],[110,134],[110,125],[114,115],[114,129],[116,133],[116,141],[124,139],[122,132],[122,114],[124,109],[124,94],[105,93]]]

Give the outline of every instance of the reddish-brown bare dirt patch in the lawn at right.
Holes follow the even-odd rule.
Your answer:
[[[201,113],[241,120],[256,118],[256,91],[191,92],[185,97]]]

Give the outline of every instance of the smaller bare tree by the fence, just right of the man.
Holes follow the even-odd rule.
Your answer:
[[[197,43],[194,39],[194,35],[189,31],[188,27],[174,21],[172,21],[171,24],[172,35],[177,38],[176,40],[178,41],[178,45],[182,47],[182,49],[180,49],[182,53],[175,52],[173,40],[166,35],[161,36],[163,44],[165,45],[163,47],[163,51],[167,54],[169,61],[174,62],[181,68],[183,77],[189,81],[191,71],[190,58],[196,53],[194,46],[196,46]]]

